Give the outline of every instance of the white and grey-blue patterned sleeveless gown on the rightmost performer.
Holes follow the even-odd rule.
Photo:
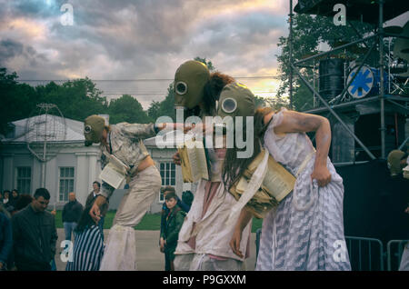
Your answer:
[[[351,270],[344,241],[343,179],[328,158],[331,183],[313,185],[315,154],[308,136],[274,134],[284,110],[273,115],[264,147],[294,175],[308,154],[313,157],[298,175],[294,191],[265,216],[255,270]]]

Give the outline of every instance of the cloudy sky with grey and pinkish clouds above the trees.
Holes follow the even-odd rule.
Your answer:
[[[73,25],[62,23],[68,2]],[[274,95],[276,80],[240,77],[278,74],[288,2],[0,0],[0,66],[27,81],[88,76],[106,96],[131,94],[146,109],[164,99],[179,65],[201,56],[256,95]]]

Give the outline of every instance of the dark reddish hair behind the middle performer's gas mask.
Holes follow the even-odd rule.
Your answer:
[[[220,94],[222,93],[223,87],[225,85],[234,83],[234,78],[230,75],[224,75],[218,71],[210,74],[209,81],[205,84],[205,95],[203,97],[204,111],[201,112],[199,105],[192,109],[186,111],[185,117],[196,115],[199,116],[201,113],[205,115],[215,114],[216,101],[219,100]]]

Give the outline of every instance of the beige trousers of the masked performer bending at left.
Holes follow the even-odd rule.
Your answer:
[[[110,229],[100,271],[136,270],[135,225],[154,203],[162,185],[155,165],[136,174],[129,183]]]

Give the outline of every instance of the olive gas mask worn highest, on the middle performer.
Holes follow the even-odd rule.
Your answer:
[[[175,73],[175,109],[192,109],[199,105],[209,79],[209,69],[199,61],[189,60],[180,65]]]

